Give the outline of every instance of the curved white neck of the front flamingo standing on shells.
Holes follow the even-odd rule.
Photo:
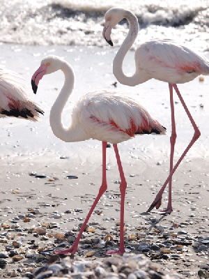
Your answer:
[[[56,137],[59,137],[59,139],[63,140],[64,142],[79,142],[82,140],[87,140],[89,137],[87,137],[86,132],[80,123],[73,125],[72,121],[70,127],[65,128],[63,126],[61,114],[63,112],[63,107],[65,107],[65,103],[72,93],[75,75],[68,63],[63,62],[61,70],[65,75],[65,82],[50,111],[49,121],[52,131]]]

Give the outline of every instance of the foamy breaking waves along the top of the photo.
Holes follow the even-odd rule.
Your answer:
[[[86,3],[87,2],[87,3]],[[122,2],[122,3],[121,3]],[[140,24],[140,40],[173,38],[201,51],[209,50],[209,1],[3,0],[1,41],[28,45],[98,45],[104,13],[112,6],[132,10]],[[123,20],[113,31],[114,45],[127,33]]]

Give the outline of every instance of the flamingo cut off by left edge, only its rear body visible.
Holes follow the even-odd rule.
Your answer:
[[[37,121],[43,114],[40,107],[26,94],[21,75],[0,68],[0,117],[13,116]]]

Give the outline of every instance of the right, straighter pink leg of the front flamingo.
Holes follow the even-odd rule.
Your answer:
[[[119,170],[119,173],[121,176],[121,184],[120,184],[120,191],[121,191],[120,246],[119,246],[119,250],[108,250],[106,255],[111,255],[111,254],[123,255],[123,253],[125,252],[125,247],[124,247],[124,204],[125,204],[125,190],[127,187],[127,183],[125,181],[123,167],[121,164],[121,158],[118,153],[118,146],[117,146],[117,144],[113,144],[113,146],[114,146],[114,150],[116,153],[118,170]]]

